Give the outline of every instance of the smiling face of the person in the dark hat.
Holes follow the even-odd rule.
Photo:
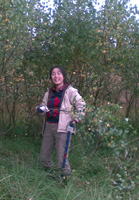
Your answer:
[[[51,74],[51,80],[56,87],[61,87],[64,84],[64,76],[59,68],[54,68]]]

